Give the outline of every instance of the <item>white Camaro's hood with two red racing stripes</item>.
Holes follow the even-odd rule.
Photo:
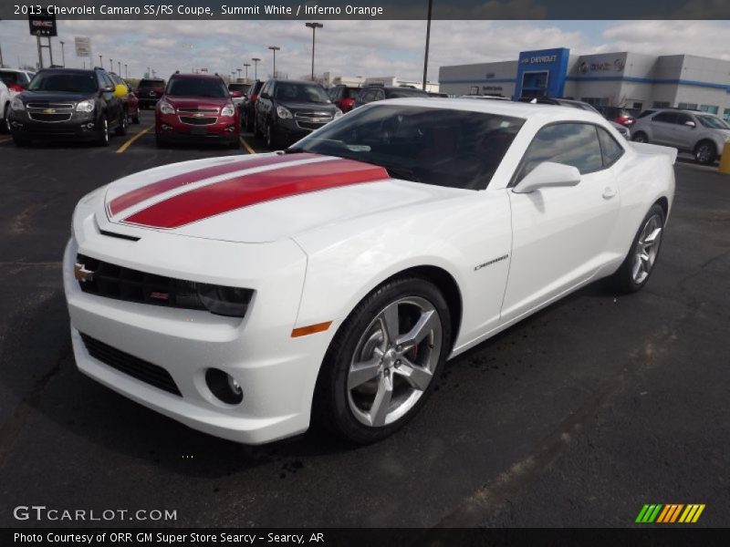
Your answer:
[[[95,207],[99,228],[131,237],[150,230],[238,243],[291,238],[323,226],[463,196],[391,179],[386,170],[317,154],[193,160],[112,182]]]

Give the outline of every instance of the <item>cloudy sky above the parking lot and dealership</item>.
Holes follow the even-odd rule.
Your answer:
[[[318,29],[315,71],[334,76],[420,80],[425,21],[325,21]],[[514,60],[520,51],[568,47],[579,55],[632,51],[657,55],[691,54],[730,60],[726,36],[730,21],[442,21],[432,23],[429,80],[438,68],[487,61]],[[272,71],[272,52],[279,46],[276,70],[304,77],[311,70],[311,29],[304,21],[58,21],[54,62],[60,64],[66,43],[66,65],[82,67],[74,36],[89,36],[94,62],[99,54],[109,69],[126,63],[130,77],[148,67],[158,76],[193,67],[230,75],[244,63],[254,76],[252,57],[259,57],[257,76]],[[36,38],[26,21],[0,20],[0,47],[6,66],[35,66]],[[47,59],[47,57],[46,57]],[[47,61],[46,61],[47,62]],[[88,59],[87,59],[88,66]],[[243,74],[243,72],[242,72]]]

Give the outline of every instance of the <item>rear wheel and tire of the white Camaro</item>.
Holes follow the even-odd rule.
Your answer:
[[[631,242],[629,254],[616,273],[608,278],[609,284],[620,293],[641,291],[649,281],[662,247],[664,219],[664,210],[654,203]]]

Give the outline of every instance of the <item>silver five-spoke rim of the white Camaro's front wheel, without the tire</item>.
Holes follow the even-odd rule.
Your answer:
[[[420,296],[388,304],[360,336],[348,377],[353,416],[371,428],[405,416],[433,380],[443,343],[441,317]]]

